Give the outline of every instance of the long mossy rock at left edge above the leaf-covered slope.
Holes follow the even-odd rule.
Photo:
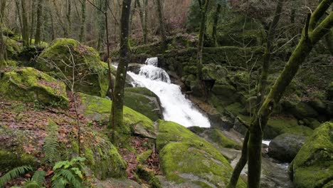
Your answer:
[[[34,68],[18,68],[4,73],[0,94],[11,100],[38,101],[46,105],[67,108],[69,100],[65,84]]]

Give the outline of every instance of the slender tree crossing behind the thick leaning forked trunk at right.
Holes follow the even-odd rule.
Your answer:
[[[263,55],[263,66],[261,70],[260,80],[258,84],[258,94],[257,94],[257,101],[256,103],[260,107],[263,103],[263,98],[266,93],[267,88],[267,78],[268,78],[268,69],[270,64],[270,58],[273,53],[273,41],[275,39],[275,30],[277,28],[277,24],[280,21],[280,15],[282,12],[282,6],[283,6],[284,0],[277,1],[277,6],[275,9],[275,14],[273,18],[273,22],[270,23],[270,28],[267,31],[267,43],[265,48],[265,54]],[[257,109],[259,110],[259,109]],[[243,122],[240,120],[245,126],[249,126],[248,123]],[[233,170],[233,174],[231,176],[231,180],[228,184],[228,188],[234,188],[236,187],[236,184],[238,182],[238,178],[240,175],[240,172],[245,167],[245,164],[248,162],[248,139],[250,137],[250,132],[247,131],[245,133],[245,137],[243,140],[243,148],[242,148],[242,154],[240,156],[240,160],[237,162],[235,169]]]

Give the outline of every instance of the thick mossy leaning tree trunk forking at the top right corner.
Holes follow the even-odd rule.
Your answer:
[[[268,118],[275,106],[280,102],[285,89],[292,81],[292,78],[294,78],[300,65],[305,61],[310,51],[312,51],[313,46],[332,28],[332,12],[324,21],[317,24],[332,2],[333,0],[322,1],[312,16],[309,14],[300,42],[292,52],[289,61],[275,81],[273,88],[270,90],[268,97],[264,100],[263,105],[261,105],[260,110],[251,120],[250,139],[248,142],[248,187],[250,188],[260,187],[261,145]]]

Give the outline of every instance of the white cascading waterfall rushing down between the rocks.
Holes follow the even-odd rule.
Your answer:
[[[148,88],[159,96],[164,120],[178,122],[185,127],[211,127],[208,118],[185,98],[179,85],[171,83],[168,73],[158,68],[157,63],[157,58],[148,58],[147,65],[140,68],[139,74],[128,72],[135,80],[133,85]]]

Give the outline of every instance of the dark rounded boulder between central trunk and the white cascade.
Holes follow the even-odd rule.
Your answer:
[[[124,105],[142,113],[153,121],[162,119],[159,97],[147,88],[125,88]]]

